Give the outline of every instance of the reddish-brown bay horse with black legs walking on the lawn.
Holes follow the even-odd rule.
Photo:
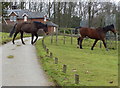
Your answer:
[[[80,49],[82,49],[82,41],[83,39],[87,36],[91,39],[95,39],[93,46],[91,47],[91,50],[93,50],[94,46],[96,45],[98,40],[102,40],[104,47],[107,49],[106,43],[105,43],[105,38],[106,38],[106,33],[108,31],[113,32],[116,35],[116,30],[114,28],[114,25],[108,25],[105,27],[98,27],[96,29],[92,29],[92,28],[86,28],[86,27],[79,27],[79,33],[80,33],[80,37],[78,37],[77,41],[78,41],[78,45],[80,46]]]

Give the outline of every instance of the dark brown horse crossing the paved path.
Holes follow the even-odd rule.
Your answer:
[[[24,41],[23,41],[23,33],[24,32],[31,33],[31,35],[32,35],[31,44],[34,44],[38,39],[37,32],[38,32],[39,29],[43,30],[46,34],[48,34],[47,24],[43,24],[43,23],[38,22],[38,21],[16,23],[14,25],[13,29],[11,30],[9,36],[12,37],[12,35],[15,32],[13,40],[12,40],[13,44],[15,44],[15,42],[14,42],[15,37],[17,36],[18,33],[21,33],[22,44],[25,44]],[[33,41],[34,36],[36,36],[36,39]]]

